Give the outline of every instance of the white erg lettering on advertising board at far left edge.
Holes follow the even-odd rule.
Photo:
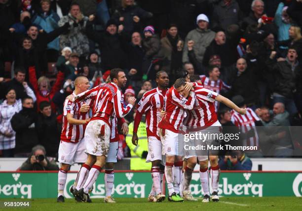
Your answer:
[[[21,182],[13,185],[0,185],[0,195],[15,196],[17,198],[32,198],[32,185],[23,185]]]

